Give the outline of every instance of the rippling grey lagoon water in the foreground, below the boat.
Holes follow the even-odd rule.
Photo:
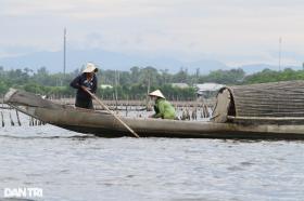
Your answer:
[[[16,200],[304,200],[304,142],[100,138],[22,121],[0,128],[0,200],[18,187],[43,197]]]

